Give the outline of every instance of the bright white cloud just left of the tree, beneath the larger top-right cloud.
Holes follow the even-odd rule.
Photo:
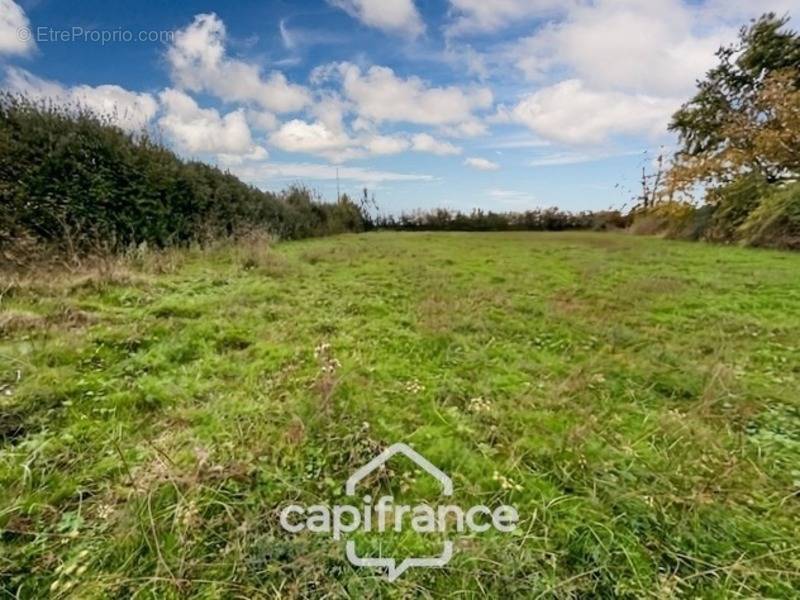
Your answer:
[[[597,91],[578,79],[542,88],[507,114],[534,133],[567,144],[593,144],[615,134],[658,135],[681,100]]]

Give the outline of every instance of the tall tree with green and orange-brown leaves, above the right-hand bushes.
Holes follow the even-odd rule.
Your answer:
[[[774,13],[720,48],[718,66],[672,118],[681,149],[670,187],[726,184],[757,173],[768,183],[800,174],[800,37]]]

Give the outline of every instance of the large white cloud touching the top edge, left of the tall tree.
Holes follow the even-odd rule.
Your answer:
[[[595,88],[686,95],[736,34],[721,23],[697,33],[699,25],[697,9],[681,0],[600,0],[521,40],[510,55],[532,80],[566,67]]]

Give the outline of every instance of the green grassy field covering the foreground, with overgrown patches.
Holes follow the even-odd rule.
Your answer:
[[[800,594],[800,254],[377,233],[0,292],[0,597]],[[400,441],[516,534],[388,583],[279,527]]]

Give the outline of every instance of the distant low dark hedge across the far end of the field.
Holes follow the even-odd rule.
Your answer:
[[[470,213],[445,209],[418,210],[400,216],[379,216],[375,225],[397,231],[568,231],[623,229],[630,219],[618,211],[570,213],[557,208],[525,212]]]

